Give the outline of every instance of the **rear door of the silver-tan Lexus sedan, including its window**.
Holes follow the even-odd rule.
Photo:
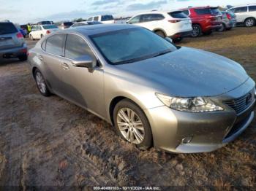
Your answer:
[[[64,58],[64,42],[66,34],[55,34],[46,39],[45,47],[42,47],[42,54],[37,55],[42,61],[43,76],[54,93],[63,95],[63,82],[61,79],[61,63]]]

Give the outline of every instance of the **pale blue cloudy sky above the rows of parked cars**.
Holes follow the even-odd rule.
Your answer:
[[[225,7],[227,4],[256,4],[256,0],[0,0],[0,20],[23,24],[105,14],[128,17],[152,9],[165,11],[188,6]]]

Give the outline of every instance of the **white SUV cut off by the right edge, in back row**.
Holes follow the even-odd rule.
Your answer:
[[[232,7],[227,9],[227,11],[234,12],[236,14],[236,20],[238,24],[243,23],[247,27],[255,26],[256,4]]]

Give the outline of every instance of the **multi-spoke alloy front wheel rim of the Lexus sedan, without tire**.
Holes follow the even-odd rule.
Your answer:
[[[136,112],[129,108],[122,108],[117,114],[117,125],[124,139],[132,144],[140,144],[145,137],[145,128]]]

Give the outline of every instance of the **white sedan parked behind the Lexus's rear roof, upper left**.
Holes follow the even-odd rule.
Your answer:
[[[43,36],[50,34],[53,31],[58,31],[59,28],[55,25],[37,25],[32,26],[29,38],[31,40],[42,39]]]

